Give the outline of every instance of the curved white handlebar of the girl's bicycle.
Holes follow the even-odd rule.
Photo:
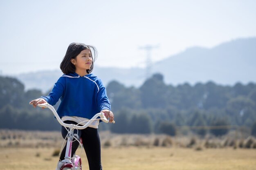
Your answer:
[[[97,119],[97,117],[100,117],[100,119],[106,123],[108,123],[108,119],[105,117],[104,113],[97,113],[96,115],[94,115],[92,117],[92,119],[88,120],[88,122],[83,125],[83,126],[78,126],[78,125],[72,125],[72,124],[65,124],[61,118],[59,117],[58,113],[56,112],[56,110],[54,109],[54,107],[48,103],[43,103],[43,104],[38,104],[37,106],[41,107],[41,108],[49,108],[52,113],[54,114],[54,116],[56,117],[56,119],[58,120],[58,122],[62,125],[65,126],[67,128],[70,127],[74,127],[76,129],[85,129],[87,128],[90,124],[92,124],[92,120]],[[113,123],[115,123],[115,121],[113,121]]]

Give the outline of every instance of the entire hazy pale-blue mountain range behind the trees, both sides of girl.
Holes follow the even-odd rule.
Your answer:
[[[191,85],[213,81],[222,85],[256,82],[256,38],[240,38],[213,48],[192,47],[155,62],[151,74],[161,73],[166,84]],[[150,75],[144,68],[94,66],[93,73],[103,84],[116,80],[125,86],[140,86]],[[38,71],[16,75],[26,89],[49,91],[62,75],[60,70]]]

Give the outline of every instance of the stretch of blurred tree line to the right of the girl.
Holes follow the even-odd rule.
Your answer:
[[[254,83],[223,86],[207,82],[172,86],[164,83],[161,74],[155,74],[139,88],[125,87],[112,81],[107,90],[116,113],[115,119],[119,122],[111,126],[113,132],[146,131],[175,135],[178,127],[192,126],[202,127],[192,130],[199,135],[208,132],[224,135],[228,127],[251,128],[256,122]],[[147,123],[141,125],[142,120]],[[227,128],[207,130],[204,126]]]

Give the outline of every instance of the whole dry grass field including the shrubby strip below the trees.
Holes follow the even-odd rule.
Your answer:
[[[59,132],[0,130],[1,170],[55,170]],[[101,133],[104,170],[256,170],[256,140]],[[246,148],[249,146],[249,148]],[[80,154],[81,153],[81,154]],[[83,170],[85,152],[79,148]]]

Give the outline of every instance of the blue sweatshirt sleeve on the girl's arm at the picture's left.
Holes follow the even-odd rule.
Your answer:
[[[43,98],[46,100],[47,103],[54,106],[58,99],[60,99],[61,96],[63,96],[65,89],[65,78],[60,77],[58,81],[54,84],[52,91],[47,96],[41,96],[40,98]]]

